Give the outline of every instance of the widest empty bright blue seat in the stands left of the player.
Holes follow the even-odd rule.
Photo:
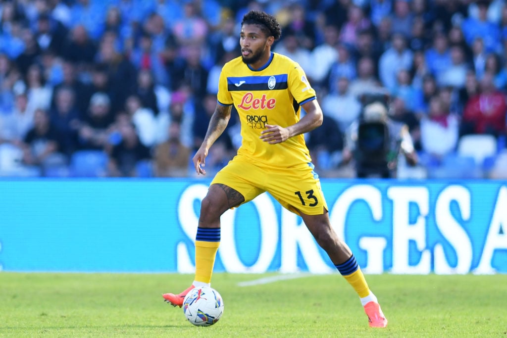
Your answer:
[[[70,158],[70,175],[74,177],[104,177],[108,157],[102,151],[77,151]]]

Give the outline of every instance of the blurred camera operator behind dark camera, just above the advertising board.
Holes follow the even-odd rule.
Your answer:
[[[417,153],[406,124],[388,114],[388,97],[367,94],[361,99],[363,111],[347,130],[343,163],[353,161],[356,177],[396,177],[400,154],[410,166],[417,164]]]

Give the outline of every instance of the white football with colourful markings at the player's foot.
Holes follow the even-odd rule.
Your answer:
[[[224,301],[212,287],[196,287],[185,296],[183,313],[196,326],[210,326],[222,317]]]

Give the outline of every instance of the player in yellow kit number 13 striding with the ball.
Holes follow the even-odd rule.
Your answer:
[[[241,56],[226,63],[219,80],[218,103],[202,145],[193,158],[198,174],[236,107],[242,144],[219,171],[201,202],[195,241],[195,280],[179,294],[163,294],[182,307],[194,287],[209,286],[220,244],[220,217],[228,209],[268,192],[283,207],[300,215],[317,243],[360,297],[372,327],[385,327],[377,298],[370,291],[350,248],[331,227],[328,206],[313,171],[303,134],[322,123],[322,110],[305,72],[293,60],[271,52],[280,25],[264,12],[250,11],[241,22]],[[306,114],[301,118],[301,107]]]

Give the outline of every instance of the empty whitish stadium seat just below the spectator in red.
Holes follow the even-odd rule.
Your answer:
[[[476,165],[482,166],[486,157],[496,155],[496,148],[496,138],[493,135],[463,135],[458,141],[457,153],[462,157],[473,157]]]

